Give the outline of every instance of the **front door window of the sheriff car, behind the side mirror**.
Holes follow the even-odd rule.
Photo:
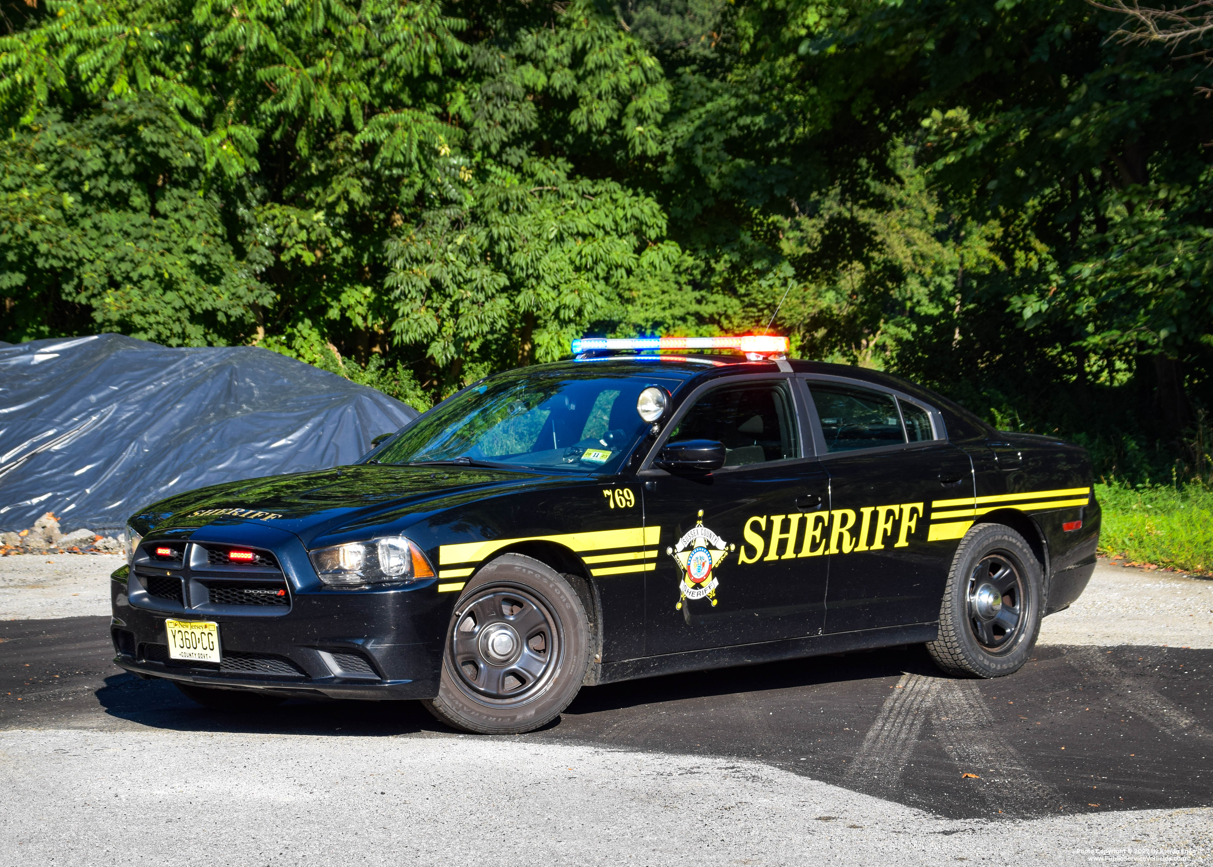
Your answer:
[[[723,442],[725,466],[801,457],[787,382],[740,382],[708,391],[682,416],[668,442],[685,440]]]

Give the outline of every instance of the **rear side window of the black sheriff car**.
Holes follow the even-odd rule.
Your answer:
[[[809,392],[821,420],[826,448],[831,452],[935,438],[929,413],[893,395],[833,382],[809,382]]]

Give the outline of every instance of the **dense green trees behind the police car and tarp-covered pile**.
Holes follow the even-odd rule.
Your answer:
[[[769,325],[1104,472],[1203,460],[1213,69],[1082,0],[28,8],[0,339],[256,344],[428,406],[580,333]]]

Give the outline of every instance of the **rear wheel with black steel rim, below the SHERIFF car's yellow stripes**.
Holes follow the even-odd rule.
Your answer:
[[[1001,678],[1036,646],[1044,611],[1041,563],[1024,537],[1001,523],[973,527],[956,549],[927,652],[944,672]]]

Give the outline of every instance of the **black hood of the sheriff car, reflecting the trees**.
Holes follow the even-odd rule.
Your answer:
[[[296,534],[403,529],[435,511],[518,487],[565,484],[568,476],[473,466],[338,466],[250,478],[177,494],[131,517],[136,532],[192,531],[251,522]]]

